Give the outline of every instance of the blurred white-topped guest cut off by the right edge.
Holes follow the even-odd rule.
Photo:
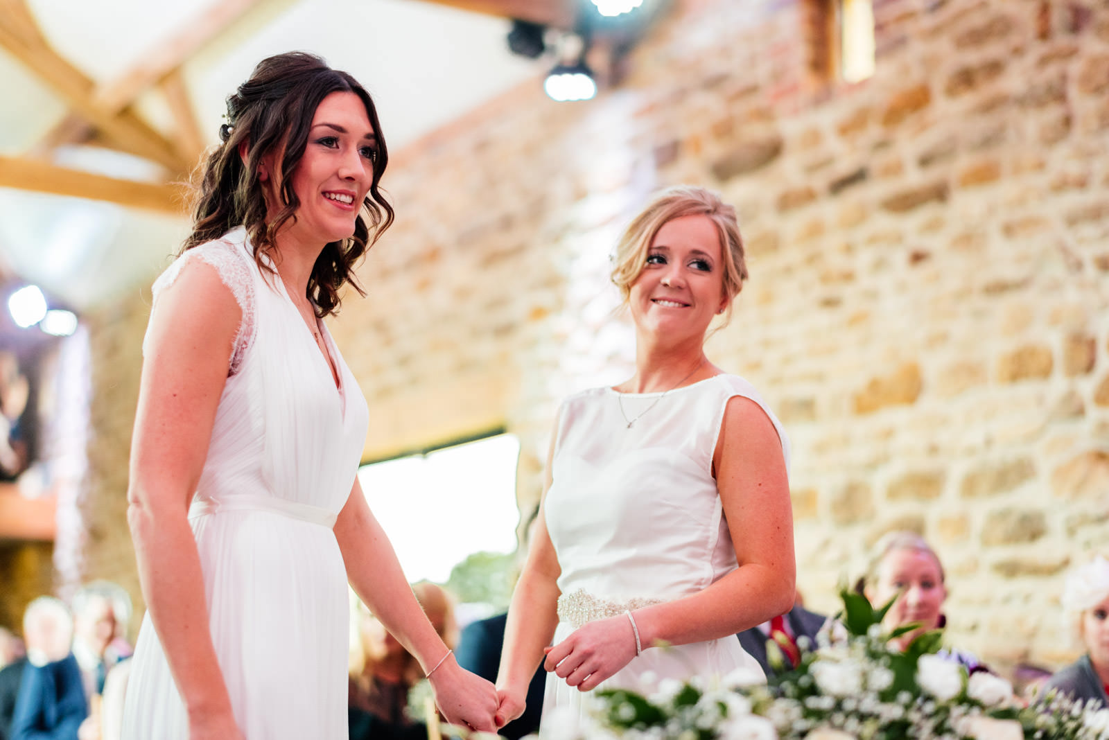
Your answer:
[[[1062,609],[1086,652],[1052,676],[1045,690],[1109,707],[1109,561],[1098,555],[1068,576]]]

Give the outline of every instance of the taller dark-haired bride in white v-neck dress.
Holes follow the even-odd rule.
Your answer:
[[[149,611],[123,737],[346,738],[348,580],[447,719],[492,729],[492,686],[366,504],[366,402],[322,320],[393,220],[373,100],[316,56],[272,56],[221,138],[143,345],[128,518]]]

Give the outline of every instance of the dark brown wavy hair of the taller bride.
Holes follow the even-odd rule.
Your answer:
[[[336,311],[344,282],[366,295],[355,280],[354,265],[393,224],[394,216],[393,206],[378,188],[389,153],[374,101],[357,80],[327,66],[319,56],[289,52],[264,59],[251,79],[227,97],[227,123],[220,127],[223,143],[197,168],[193,230],[181,249],[218,239],[242,225],[254,245],[254,259],[273,273],[262,256],[274,250],[274,237],[288,219],[296,223],[301,201],[293,191],[292,175],[304,156],[316,107],[334,92],[353,92],[362,99],[377,143],[374,176],[354,236],[325,245],[308,277],[307,297],[319,317]],[[238,153],[243,144],[245,162]],[[271,176],[281,183],[284,207],[267,223],[258,165],[272,152],[281,155],[275,165],[281,172]]]

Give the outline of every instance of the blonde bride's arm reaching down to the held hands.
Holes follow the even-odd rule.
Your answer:
[[[557,429],[556,424],[556,433]],[[543,500],[551,485],[553,454],[552,434],[543,477]],[[503,727],[523,713],[528,684],[543,659],[543,648],[551,644],[554,629],[558,627],[560,574],[558,555],[554,553],[554,545],[551,544],[547,518],[540,505],[528,559],[523,564],[520,579],[512,593],[512,604],[508,609],[505,645],[500,652],[500,670],[497,674],[497,692],[500,696],[497,727]]]

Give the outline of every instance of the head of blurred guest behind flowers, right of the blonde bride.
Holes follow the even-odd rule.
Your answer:
[[[875,607],[897,597],[883,620],[886,629],[919,625],[892,640],[891,644],[899,650],[922,634],[947,624],[944,616],[944,602],[947,599],[944,566],[936,551],[915,532],[884,535],[875,545],[871,567],[859,586]],[[969,674],[988,670],[969,652],[945,649],[940,655],[963,664]]]

